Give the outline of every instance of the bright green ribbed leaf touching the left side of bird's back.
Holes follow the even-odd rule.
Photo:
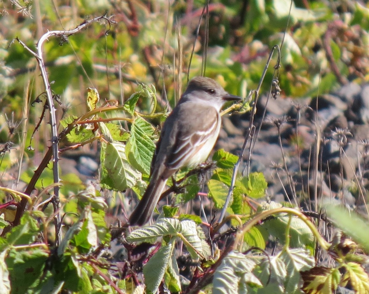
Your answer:
[[[150,138],[153,134],[154,128],[151,124],[141,117],[135,119],[125,152],[132,166],[141,173],[150,174],[151,160],[155,151],[155,144]]]

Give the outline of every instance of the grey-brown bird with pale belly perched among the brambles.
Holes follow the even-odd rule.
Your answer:
[[[130,226],[143,226],[149,221],[169,177],[182,167],[193,168],[206,161],[219,135],[221,108],[227,101],[240,99],[214,79],[194,77],[189,81],[163,124],[149,184],[128,220]]]

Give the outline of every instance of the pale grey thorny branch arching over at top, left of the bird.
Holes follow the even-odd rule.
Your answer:
[[[85,20],[83,21],[80,25],[77,25],[75,29],[71,29],[69,31],[49,31],[46,32],[44,35],[41,36],[41,38],[38,40],[37,45],[36,45],[36,51],[34,52],[33,50],[31,50],[27,45],[25,45],[25,43],[23,43],[20,39],[15,38],[28,52],[30,52],[36,59],[37,59],[37,63],[39,65],[40,71],[41,71],[41,77],[42,80],[44,82],[45,85],[45,92],[46,92],[46,97],[48,100],[48,105],[49,105],[49,110],[50,110],[50,124],[51,124],[51,150],[52,150],[52,157],[54,158],[53,160],[53,177],[54,177],[54,183],[59,183],[60,179],[59,179],[59,171],[58,171],[58,129],[57,129],[57,125],[56,125],[56,108],[54,105],[54,101],[53,101],[53,95],[51,92],[51,87],[50,87],[50,83],[49,83],[49,79],[48,79],[48,74],[46,72],[46,67],[45,67],[45,63],[44,63],[44,57],[42,56],[42,45],[44,44],[44,42],[46,40],[48,40],[48,38],[52,37],[52,36],[56,36],[56,37],[60,37],[62,38],[62,40],[66,41],[68,40],[68,36],[73,35],[75,33],[78,33],[80,31],[82,31],[84,28],[86,28],[88,25],[92,24],[93,22],[96,21],[100,21],[100,20],[105,20],[108,22],[109,25],[109,29],[106,31],[106,34],[110,31],[111,25],[115,24],[116,22],[113,20],[113,18],[107,18],[106,14],[104,14],[103,16],[100,17],[95,17],[92,20]],[[60,218],[60,214],[59,214],[59,185],[55,185],[54,187],[54,199],[55,201],[53,201],[53,208],[54,208],[54,213],[55,213],[55,219],[54,219],[54,223],[55,223],[55,233],[56,233],[56,245],[60,244],[60,240],[61,240],[61,232],[58,229],[60,227],[60,222],[61,222],[61,218]],[[22,199],[22,201],[20,202],[20,207],[17,210],[17,214],[15,216],[15,220],[14,220],[14,225],[17,225],[19,223],[20,217],[24,212],[25,209],[25,205],[27,204],[27,200],[24,201],[24,199]]]

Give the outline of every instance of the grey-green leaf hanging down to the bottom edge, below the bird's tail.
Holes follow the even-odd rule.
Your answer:
[[[163,245],[144,265],[143,273],[146,289],[151,293],[156,293],[164,277],[165,271],[170,262],[170,256],[173,254],[175,242],[169,242]]]

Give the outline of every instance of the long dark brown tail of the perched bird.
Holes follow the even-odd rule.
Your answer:
[[[130,216],[130,226],[143,226],[147,223],[154,212],[156,204],[158,204],[160,196],[163,192],[167,179],[159,177],[158,180],[151,180],[144,196],[138,203]]]

